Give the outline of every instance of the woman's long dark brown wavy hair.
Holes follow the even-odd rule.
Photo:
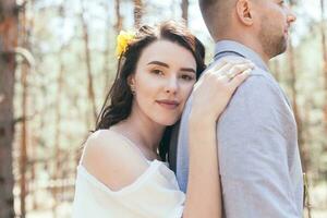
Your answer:
[[[205,70],[205,48],[183,24],[169,21],[160,23],[155,27],[142,26],[136,32],[133,40],[129,43],[125,52],[119,58],[116,80],[107,94],[97,119],[95,131],[109,129],[111,125],[125,120],[131,114],[133,94],[128,84],[128,77],[135,72],[142,51],[152,43],[159,39],[170,40],[192,52],[196,61],[196,78]],[[108,102],[109,99],[110,104]],[[159,146],[159,155],[162,160],[167,159],[170,132],[171,126],[166,129]]]

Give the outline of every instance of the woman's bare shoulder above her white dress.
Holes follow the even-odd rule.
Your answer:
[[[82,165],[113,191],[133,183],[148,168],[133,145],[109,130],[96,131],[87,138]]]

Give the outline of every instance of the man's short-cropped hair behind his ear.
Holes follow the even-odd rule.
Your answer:
[[[228,28],[237,0],[198,0],[202,16],[214,39]]]

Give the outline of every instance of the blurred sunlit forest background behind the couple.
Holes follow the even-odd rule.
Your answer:
[[[326,218],[327,0],[289,3],[298,21],[270,69],[299,124],[304,216]],[[209,63],[197,0],[0,0],[0,218],[70,217],[81,146],[116,74],[116,36],[168,19],[186,21]]]

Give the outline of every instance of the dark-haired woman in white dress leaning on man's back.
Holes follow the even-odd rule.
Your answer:
[[[77,168],[73,217],[221,217],[215,123],[253,64],[221,62],[194,87],[184,194],[165,162],[169,126],[205,69],[204,46],[173,22],[143,26],[125,39],[111,104],[105,102]],[[208,100],[213,107],[204,108]]]

